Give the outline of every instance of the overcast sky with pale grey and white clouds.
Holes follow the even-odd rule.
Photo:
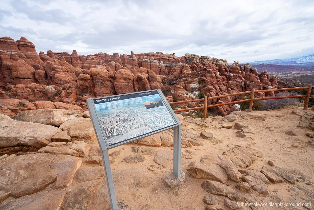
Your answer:
[[[0,37],[78,54],[194,53],[249,62],[314,53],[314,1],[0,0]]]

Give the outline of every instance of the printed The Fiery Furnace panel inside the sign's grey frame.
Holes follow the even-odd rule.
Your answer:
[[[176,125],[156,90],[94,99],[109,146]]]

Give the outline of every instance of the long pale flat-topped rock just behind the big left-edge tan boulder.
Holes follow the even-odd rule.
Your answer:
[[[16,117],[14,117],[14,119],[25,122],[35,122],[45,125],[59,126],[63,122],[82,116],[83,111],[78,110],[37,109],[21,112]]]

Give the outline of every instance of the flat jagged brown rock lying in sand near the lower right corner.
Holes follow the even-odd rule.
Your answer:
[[[298,173],[288,168],[263,166],[261,173],[263,173],[274,184],[284,182],[295,184],[296,182],[309,181],[309,178],[304,174]]]

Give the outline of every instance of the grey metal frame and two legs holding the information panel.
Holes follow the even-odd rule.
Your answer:
[[[102,162],[104,165],[104,170],[105,170],[105,176],[106,176],[106,182],[107,182],[107,187],[108,187],[108,192],[109,192],[109,198],[110,198],[110,203],[111,203],[111,209],[113,210],[118,210],[117,206],[117,201],[116,201],[116,194],[115,194],[115,189],[114,189],[114,183],[112,179],[112,173],[111,173],[111,167],[110,167],[110,160],[109,160],[109,154],[108,154],[108,149],[126,144],[128,142],[141,139],[150,135],[154,135],[156,133],[160,133],[162,131],[168,130],[173,128],[173,173],[177,178],[180,178],[180,173],[181,173],[181,123],[179,119],[177,118],[176,114],[173,112],[171,106],[169,105],[168,101],[165,99],[164,94],[160,89],[155,89],[155,90],[147,90],[147,91],[141,91],[141,92],[136,92],[136,93],[128,93],[128,94],[120,94],[120,95],[114,95],[114,97],[119,97],[123,95],[129,95],[129,94],[139,94],[139,93],[146,93],[146,92],[151,92],[151,91],[157,91],[157,93],[160,96],[160,99],[162,100],[163,104],[169,111],[170,115],[172,116],[172,119],[175,121],[174,125],[168,126],[166,128],[162,128],[156,131],[152,131],[150,133],[146,133],[131,139],[127,139],[125,141],[118,142],[114,145],[108,145],[108,142],[106,140],[106,136],[103,130],[103,127],[101,125],[98,113],[96,111],[95,99],[106,99],[110,98],[112,96],[104,96],[104,97],[98,97],[98,98],[93,98],[93,99],[87,99],[87,107],[88,111],[90,114],[90,118],[92,120],[92,124],[94,127],[94,131],[98,140],[98,144],[100,146],[100,149],[102,150],[101,156],[102,156]]]

